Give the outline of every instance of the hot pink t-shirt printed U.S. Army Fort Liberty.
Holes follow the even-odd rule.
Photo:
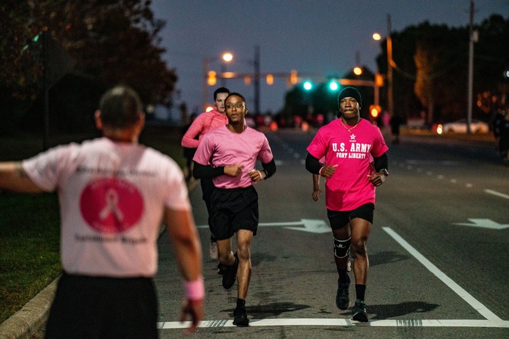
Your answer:
[[[320,128],[307,151],[315,158],[325,156],[325,164],[338,165],[325,180],[325,206],[335,211],[349,211],[366,203],[375,203],[375,186],[368,175],[374,172],[373,159],[388,150],[380,129],[360,119],[351,133],[341,119]]]

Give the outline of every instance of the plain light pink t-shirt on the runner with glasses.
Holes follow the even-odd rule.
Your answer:
[[[254,169],[257,159],[267,164],[272,160],[272,151],[265,135],[245,127],[244,132],[234,133],[227,127],[207,133],[198,146],[193,160],[212,167],[242,164],[238,176],[222,174],[213,178],[214,186],[223,189],[249,187],[253,184],[249,171]]]

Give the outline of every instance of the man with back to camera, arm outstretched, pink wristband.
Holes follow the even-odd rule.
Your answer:
[[[0,163],[0,188],[58,192],[61,259],[46,338],[156,338],[157,239],[164,218],[173,240],[192,333],[203,319],[200,239],[177,163],[138,144],[142,103],[127,86],[103,95],[102,137]],[[176,305],[177,306],[177,305]]]

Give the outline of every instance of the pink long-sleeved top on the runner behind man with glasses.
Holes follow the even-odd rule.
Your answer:
[[[200,145],[200,141],[205,133],[226,125],[228,125],[228,117],[226,115],[222,115],[215,109],[204,112],[194,119],[182,137],[181,144],[183,147],[196,148]],[[194,139],[195,136],[198,136],[199,140]]]

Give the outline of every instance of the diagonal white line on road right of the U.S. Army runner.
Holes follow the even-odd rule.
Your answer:
[[[412,245],[410,245],[405,239],[403,239],[398,233],[394,232],[390,227],[383,227],[383,230],[387,232],[394,240],[396,240],[405,250],[407,250],[411,255],[415,257],[422,265],[430,270],[433,274],[437,276],[445,285],[447,285],[451,290],[455,291],[460,297],[463,298],[466,302],[470,304],[477,312],[479,312],[483,317],[491,321],[502,321],[496,314],[488,310],[488,308],[477,301],[473,296],[470,295],[467,291],[465,291],[460,285],[456,284],[452,279],[450,279],[444,272],[438,269],[431,261],[426,259],[423,255],[421,255],[417,250],[415,250]]]

